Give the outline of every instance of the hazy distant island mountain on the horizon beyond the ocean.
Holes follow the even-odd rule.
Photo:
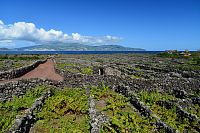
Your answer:
[[[16,48],[20,51],[145,51],[141,48],[129,48],[120,45],[90,46],[79,43],[44,44],[29,47]]]

